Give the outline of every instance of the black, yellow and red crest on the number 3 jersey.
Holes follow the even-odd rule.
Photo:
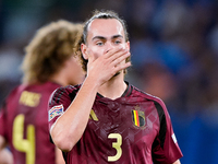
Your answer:
[[[145,127],[145,113],[140,110],[138,105],[132,109],[132,120],[136,127]]]

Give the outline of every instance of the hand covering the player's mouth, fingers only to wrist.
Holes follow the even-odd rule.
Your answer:
[[[102,85],[117,72],[131,66],[130,62],[125,62],[128,57],[130,57],[130,51],[123,48],[111,49],[97,59],[90,52],[87,65],[87,77],[92,77],[97,84]]]

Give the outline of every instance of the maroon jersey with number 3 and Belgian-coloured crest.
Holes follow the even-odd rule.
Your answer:
[[[81,85],[58,89],[49,102],[49,127],[69,107]],[[68,164],[171,164],[182,157],[164,102],[133,85],[110,99],[96,95],[87,127]]]

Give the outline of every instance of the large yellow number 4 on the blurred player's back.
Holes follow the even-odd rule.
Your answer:
[[[17,151],[26,153],[26,164],[35,163],[35,128],[28,125],[24,139],[24,115],[17,115],[13,122],[13,145]]]

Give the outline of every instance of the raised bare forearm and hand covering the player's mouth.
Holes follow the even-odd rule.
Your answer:
[[[94,104],[98,87],[118,71],[130,66],[130,62],[118,65],[130,54],[121,49],[112,49],[95,59],[89,55],[87,77],[74,101],[50,129],[55,144],[62,151],[71,151],[81,139]]]

